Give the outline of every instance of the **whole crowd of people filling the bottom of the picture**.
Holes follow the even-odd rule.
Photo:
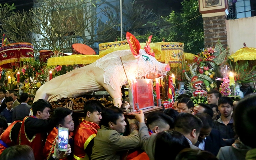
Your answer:
[[[13,110],[15,101],[5,94],[0,90],[0,160],[256,160],[256,93],[234,105],[213,89],[208,104],[197,106],[179,95],[173,109],[146,116],[143,111],[124,116],[116,106],[88,100],[77,127],[69,108],[57,108],[50,117],[51,104],[39,99],[30,112],[24,94]],[[4,110],[13,114],[9,126]],[[59,127],[70,132],[66,152],[58,151]]]

